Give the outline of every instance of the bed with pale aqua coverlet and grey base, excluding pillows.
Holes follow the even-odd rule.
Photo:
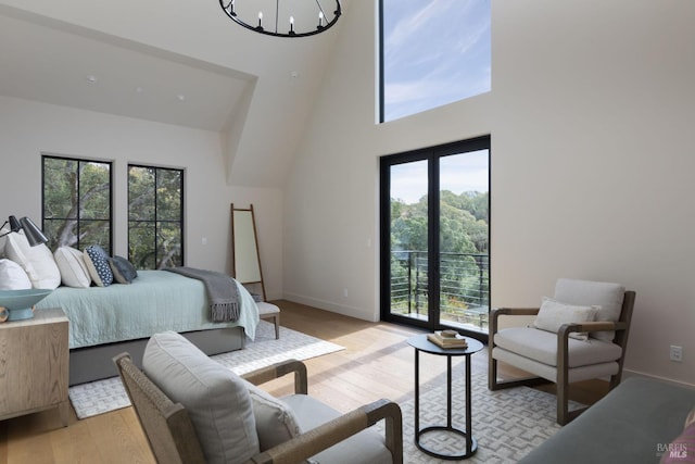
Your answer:
[[[62,308],[70,319],[70,385],[117,375],[112,358],[128,351],[136,362],[153,334],[182,334],[206,354],[242,349],[253,339],[258,310],[236,283],[241,311],[235,322],[210,322],[204,284],[167,271],[138,271],[131,284],[59,287],[36,308]]]

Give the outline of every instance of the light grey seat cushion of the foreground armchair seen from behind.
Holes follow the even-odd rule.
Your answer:
[[[291,394],[283,397],[282,401],[292,409],[300,427],[305,431],[341,415],[332,407],[306,394]],[[392,462],[383,435],[370,428],[321,451],[309,460],[312,464],[391,464]]]

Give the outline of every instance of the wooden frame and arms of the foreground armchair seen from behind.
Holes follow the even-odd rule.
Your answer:
[[[205,456],[188,412],[174,403],[140,371],[128,353],[114,358],[121,378],[144,430],[152,452],[160,463],[204,463]],[[254,385],[294,375],[295,393],[307,393],[306,366],[290,360],[262,367],[243,376]],[[353,410],[321,426],[294,437],[251,457],[248,464],[290,464],[304,461],[346,438],[384,419],[386,447],[394,464],[403,463],[403,418],[401,407],[389,400],[378,400]]]

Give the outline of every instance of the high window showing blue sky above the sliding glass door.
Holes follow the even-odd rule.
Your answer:
[[[380,122],[490,91],[491,0],[381,0]]]

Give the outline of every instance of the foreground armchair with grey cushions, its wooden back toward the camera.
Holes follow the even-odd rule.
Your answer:
[[[307,396],[300,361],[243,378],[175,333],[153,336],[140,371],[114,358],[160,463],[402,463],[402,415],[379,400],[346,414]],[[256,385],[294,375],[295,394],[277,399]],[[384,432],[370,426],[384,421]]]

